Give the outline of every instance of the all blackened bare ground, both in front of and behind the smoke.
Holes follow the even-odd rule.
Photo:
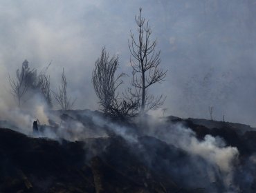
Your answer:
[[[64,114],[62,119],[95,127],[89,116],[79,114]],[[168,121],[188,126],[199,140],[211,134],[237,147],[234,181],[240,192],[255,192],[253,128],[240,132],[239,124],[204,120],[200,125],[199,120],[177,117]],[[205,177],[207,170],[214,172],[214,181]],[[219,169],[201,157],[153,136],[129,143],[115,134],[71,142],[0,129],[0,192],[224,192],[221,178]]]

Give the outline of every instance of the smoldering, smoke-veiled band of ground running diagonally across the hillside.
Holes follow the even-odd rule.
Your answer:
[[[41,125],[39,133],[33,133],[32,123],[38,112]],[[62,143],[84,141],[87,160],[106,154],[111,139],[120,137],[127,148],[141,163],[151,170],[170,176],[176,184],[188,188],[203,188],[206,192],[239,192],[236,165],[239,151],[226,145],[221,137],[206,135],[203,140],[183,123],[170,123],[161,117],[138,117],[130,121],[114,121],[100,112],[90,110],[53,111],[44,105],[35,110],[9,116],[24,123],[23,132],[32,137],[46,137]],[[19,116],[20,115],[20,116]],[[41,121],[41,120],[42,121]],[[45,121],[46,120],[46,121]],[[17,125],[19,126],[19,124]],[[18,129],[17,129],[18,130]],[[99,143],[93,142],[98,139]],[[104,139],[104,140],[103,140]],[[250,163],[254,165],[253,162]],[[248,171],[246,175],[252,175]],[[248,183],[243,181],[243,183]]]

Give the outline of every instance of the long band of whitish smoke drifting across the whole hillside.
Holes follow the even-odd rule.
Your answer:
[[[66,114],[66,119],[60,119],[62,113]],[[81,115],[79,119],[77,119],[76,113]],[[147,116],[146,119],[138,117],[138,119],[134,120],[134,123],[137,121],[137,128],[132,128],[131,125],[114,123],[90,111],[73,111],[73,114],[62,111],[49,112],[45,110],[44,105],[39,104],[35,105],[35,109],[29,112],[12,110],[6,114],[6,119],[21,127],[21,132],[26,134],[32,134],[33,121],[38,119],[41,125],[44,125],[44,130],[36,134],[35,137],[43,136],[55,140],[86,141],[89,138],[108,137],[114,134],[121,136],[127,143],[131,145],[137,144],[141,148],[143,145],[140,144],[138,138],[140,136],[153,136],[161,141],[165,141],[167,144],[174,145],[178,149],[184,150],[192,156],[200,156],[211,165],[211,167],[203,169],[205,170],[205,176],[211,183],[214,183],[218,178],[216,175],[219,175],[227,191],[237,190],[233,182],[234,165],[239,156],[237,148],[227,147],[225,141],[221,138],[210,135],[206,135],[203,140],[199,141],[196,138],[196,134],[190,128],[186,128],[181,123],[168,123],[159,116]],[[51,119],[57,127],[47,126],[50,122],[48,119]],[[85,119],[91,121],[92,128],[86,125]]]

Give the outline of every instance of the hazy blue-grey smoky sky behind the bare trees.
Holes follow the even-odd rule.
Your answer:
[[[38,70],[52,61],[51,87],[62,68],[75,108],[98,109],[91,72],[103,45],[131,74],[128,39],[143,8],[158,39],[166,81],[149,92],[167,96],[167,114],[256,126],[256,1],[0,0],[1,103],[12,103],[8,74],[24,59]],[[127,85],[129,79],[126,80]],[[127,86],[124,85],[124,86]]]

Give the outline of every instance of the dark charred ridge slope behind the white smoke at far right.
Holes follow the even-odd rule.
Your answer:
[[[256,130],[249,125],[207,119],[174,119],[172,116],[168,121],[171,123],[182,122],[187,125],[195,132],[196,138],[199,140],[203,140],[206,135],[220,137],[226,142],[226,145],[236,147],[242,156],[255,153]]]

